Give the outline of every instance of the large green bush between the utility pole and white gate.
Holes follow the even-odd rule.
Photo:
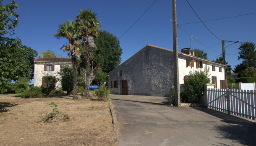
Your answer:
[[[200,96],[204,95],[204,84],[210,83],[209,68],[205,70],[190,72],[185,78],[183,87],[185,89],[188,103],[199,103]]]

